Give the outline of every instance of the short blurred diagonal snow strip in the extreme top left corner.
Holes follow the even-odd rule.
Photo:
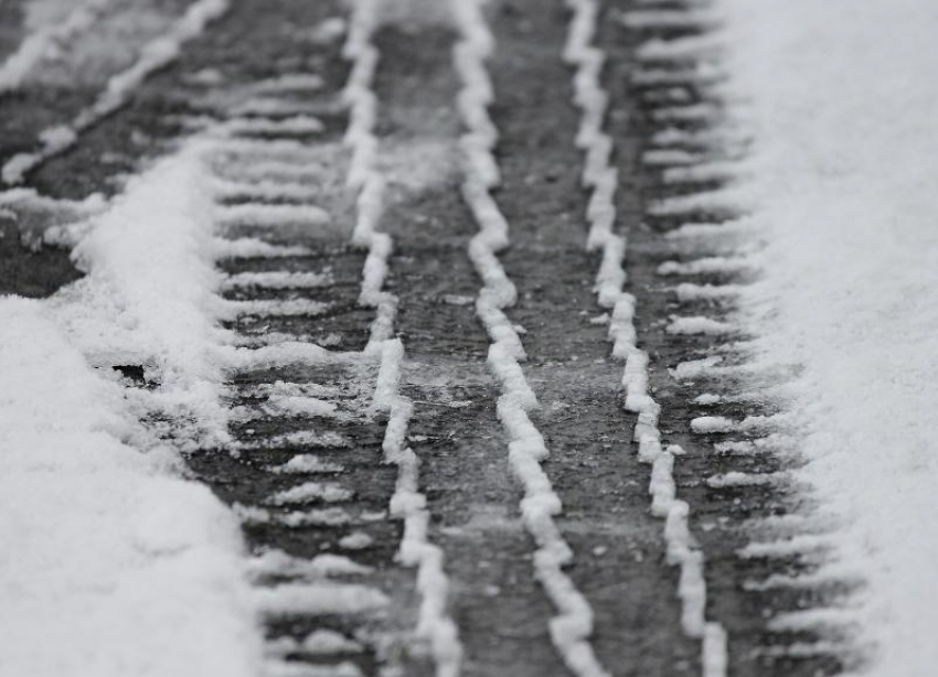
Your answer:
[[[19,89],[33,67],[54,53],[58,44],[87,30],[107,9],[111,0],[79,2],[58,23],[46,23],[22,41],[15,52],[0,64],[0,95]]]

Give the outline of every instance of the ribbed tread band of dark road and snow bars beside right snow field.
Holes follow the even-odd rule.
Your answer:
[[[619,208],[648,225],[628,255],[632,287],[649,290],[638,337],[664,439],[685,452],[673,472],[708,556],[707,610],[729,633],[728,671],[836,674],[845,630],[827,608],[854,583],[823,573],[833,525],[785,472],[798,463],[778,405],[787,376],[761,373],[734,313],[758,272],[758,228],[733,184],[748,140],[723,97],[718,20],[706,2],[625,4],[600,42],[617,63],[612,100],[632,120],[629,130],[614,117],[614,133],[642,137],[619,161],[641,166],[640,201]]]

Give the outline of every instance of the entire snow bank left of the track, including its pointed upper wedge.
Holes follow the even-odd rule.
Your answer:
[[[3,677],[259,674],[237,519],[140,423],[185,418],[182,447],[225,433],[201,162],[198,146],[160,161],[77,228],[85,278],[0,298]]]

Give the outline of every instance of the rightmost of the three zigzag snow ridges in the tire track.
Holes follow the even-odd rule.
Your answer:
[[[603,261],[596,277],[595,291],[599,304],[612,311],[609,341],[612,355],[626,359],[622,384],[626,408],[638,413],[635,440],[639,459],[652,463],[649,493],[652,514],[665,520],[664,538],[669,563],[681,569],[678,595],[682,603],[681,623],[689,637],[702,641],[702,665],[705,677],[724,677],[727,663],[727,638],[723,626],[707,621],[706,582],[703,554],[694,545],[687,515],[690,506],[675,497],[674,458],[683,453],[676,445],[661,448],[658,429],[660,406],[648,394],[648,354],[636,345],[633,323],[635,297],[622,291],[627,276],[623,268],[626,239],[612,232],[616,218],[615,194],[617,170],[609,164],[612,139],[604,133],[603,123],[608,95],[600,84],[604,53],[591,46],[600,6],[596,0],[567,0],[573,11],[564,60],[575,65],[574,103],[583,111],[576,144],[586,153],[583,184],[591,190],[587,206],[589,235],[587,249],[600,250]]]

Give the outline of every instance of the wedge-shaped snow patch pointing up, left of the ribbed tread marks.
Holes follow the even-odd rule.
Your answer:
[[[50,300],[93,364],[141,365],[159,384],[149,406],[194,415],[193,444],[227,436],[218,400],[230,336],[216,326],[225,304],[203,151],[193,143],[131,180],[74,249],[87,276]]]

